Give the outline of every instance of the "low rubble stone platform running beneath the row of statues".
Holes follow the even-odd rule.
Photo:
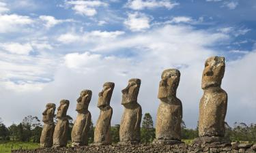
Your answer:
[[[40,148],[36,150],[12,150],[12,153],[196,153],[196,152],[221,152],[221,153],[255,153],[256,144],[238,144],[229,145],[205,145],[204,147],[188,146],[186,144],[177,145],[134,145],[134,146],[82,146],[79,148]]]

